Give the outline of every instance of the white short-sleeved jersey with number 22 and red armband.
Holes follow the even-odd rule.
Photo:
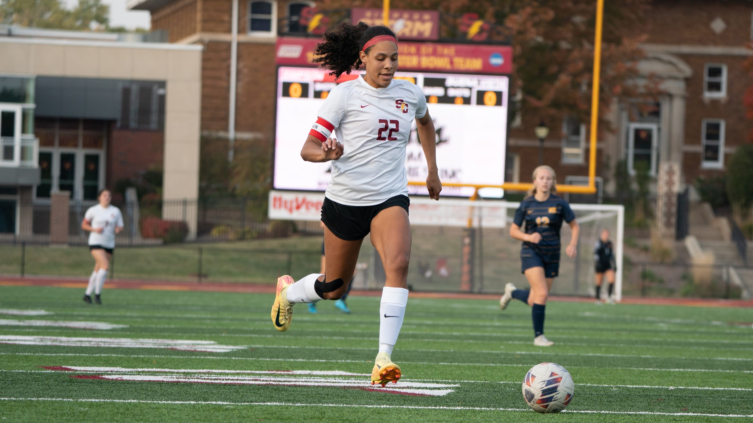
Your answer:
[[[344,147],[331,162],[325,196],[344,205],[377,205],[407,195],[405,147],[413,119],[425,114],[424,93],[409,81],[374,88],[361,76],[335,87],[309,132],[323,142],[334,130]]]

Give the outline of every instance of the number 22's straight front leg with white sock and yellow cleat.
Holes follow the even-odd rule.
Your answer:
[[[371,372],[372,385],[397,383],[401,377],[400,367],[392,362],[391,356],[403,326],[408,301],[410,242],[410,222],[404,208],[386,208],[371,221],[371,243],[382,258],[387,277],[382,291],[379,354]]]

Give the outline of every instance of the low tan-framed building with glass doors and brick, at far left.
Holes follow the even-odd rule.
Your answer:
[[[99,190],[154,166],[163,169],[164,199],[194,201],[184,213],[193,236],[201,46],[0,30],[0,56],[9,58],[0,60],[0,239],[50,233],[59,192],[69,193],[79,234]]]

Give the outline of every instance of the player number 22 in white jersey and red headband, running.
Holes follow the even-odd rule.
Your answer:
[[[316,48],[316,62],[337,78],[361,65],[366,73],[329,93],[300,151],[309,162],[332,161],[332,178],[322,205],[325,274],[314,273],[297,282],[288,275],[279,278],[272,321],[277,330],[288,330],[295,303],[340,298],[355,271],[361,242],[371,233],[387,276],[371,383],[384,386],[397,383],[401,376],[391,355],[408,300],[411,236],[405,148],[415,118],[419,138],[424,140],[428,194],[439,199],[436,133],[421,88],[393,80],[398,70],[398,41],[390,29],[340,23],[324,38]]]

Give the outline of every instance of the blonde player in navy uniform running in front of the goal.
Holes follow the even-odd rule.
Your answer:
[[[572,229],[570,244],[565,250],[569,257],[575,257],[578,233],[581,230],[568,202],[554,195],[555,192],[554,169],[538,166],[533,171],[533,187],[527,198],[520,202],[514,223],[510,227],[510,236],[523,241],[520,262],[531,290],[523,291],[508,283],[505,285],[505,295],[499,300],[499,306],[503,310],[513,298],[531,306],[533,345],[541,347],[554,345],[554,342],[544,336],[544,311],[549,290],[559,274],[559,229],[562,221],[570,224]],[[520,230],[524,221],[525,233]]]

